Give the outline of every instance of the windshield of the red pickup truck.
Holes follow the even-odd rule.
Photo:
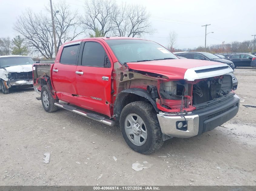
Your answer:
[[[161,59],[178,59],[165,47],[148,40],[113,39],[106,40],[118,61],[142,62]]]

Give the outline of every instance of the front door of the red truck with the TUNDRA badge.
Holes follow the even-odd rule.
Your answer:
[[[100,41],[84,41],[76,68],[79,106],[111,116],[111,74],[113,64]]]

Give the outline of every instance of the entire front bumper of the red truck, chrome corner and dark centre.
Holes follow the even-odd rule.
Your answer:
[[[179,130],[177,124],[185,121],[180,113],[158,113],[158,121],[163,134],[171,137],[188,138],[210,131],[232,119],[239,109],[240,98],[233,95],[219,103],[193,110],[185,115],[187,127]]]

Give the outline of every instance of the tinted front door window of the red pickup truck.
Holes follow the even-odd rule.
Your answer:
[[[104,68],[111,67],[111,63],[104,48],[101,46],[101,44],[96,42],[85,43],[81,65]]]

